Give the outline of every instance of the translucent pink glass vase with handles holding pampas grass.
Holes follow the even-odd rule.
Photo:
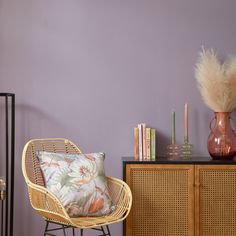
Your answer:
[[[215,126],[208,137],[208,151],[213,159],[233,159],[236,155],[236,137],[231,128],[230,112],[215,112]]]

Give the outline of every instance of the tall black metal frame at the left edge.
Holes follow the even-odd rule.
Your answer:
[[[1,236],[13,236],[14,166],[15,166],[15,94],[0,93],[5,98],[6,199],[1,204]],[[5,208],[5,209],[4,209]],[[5,213],[5,217],[4,217]],[[3,226],[5,222],[5,227]]]

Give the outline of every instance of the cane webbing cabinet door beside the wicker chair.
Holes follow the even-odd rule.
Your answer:
[[[126,164],[133,205],[126,236],[194,235],[194,165]]]

